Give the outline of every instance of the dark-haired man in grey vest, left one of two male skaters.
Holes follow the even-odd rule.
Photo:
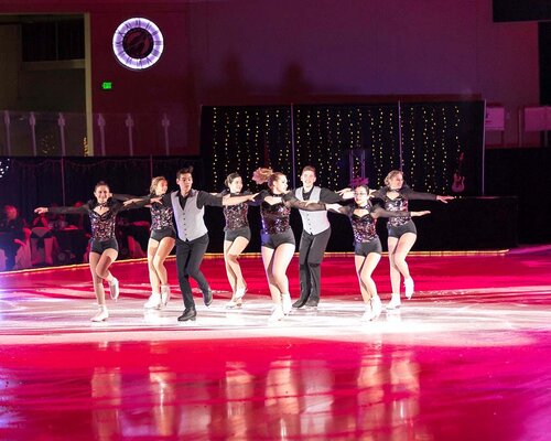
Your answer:
[[[222,197],[215,196],[202,190],[192,189],[193,168],[181,169],[176,173],[176,183],[180,190],[165,194],[162,203],[172,206],[174,212],[174,225],[176,226],[176,268],[180,290],[184,299],[185,310],[177,318],[179,322],[195,320],[195,302],[193,300],[190,276],[195,279],[203,292],[205,305],[213,302],[213,292],[205,276],[199,269],[203,257],[208,247],[208,230],[203,218],[205,205],[219,206],[236,205],[245,201],[251,201],[256,195]]]

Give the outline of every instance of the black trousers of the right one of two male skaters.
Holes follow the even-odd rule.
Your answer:
[[[322,260],[331,237],[331,227],[325,232],[311,235],[302,232],[299,247],[299,263],[301,278],[301,299],[320,301]]]

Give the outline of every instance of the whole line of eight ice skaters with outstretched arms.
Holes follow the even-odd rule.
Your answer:
[[[238,261],[251,238],[247,213],[249,205],[259,205],[261,214],[261,256],[273,302],[269,321],[280,321],[293,308],[316,308],[321,292],[321,263],[331,236],[327,212],[348,216],[354,233],[354,260],[359,289],[365,303],[361,320],[371,321],[382,312],[372,272],[381,258],[381,243],[376,233],[378,217],[388,217],[388,256],[392,295],[387,310],[400,306],[400,288],[403,280],[406,298],[414,293],[406,258],[417,239],[414,216],[428,211],[408,211],[410,200],[432,200],[447,203],[453,196],[419,193],[404,184],[401,171],[393,170],[385,179],[385,185],[377,191],[367,185],[334,192],[315,185],[313,166],[305,166],[301,173],[302,186],[288,190],[283,173],[271,169],[257,169],[252,180],[268,184],[268,189],[252,194],[244,191],[242,178],[231,173],[226,179],[227,190],[219,194],[193,189],[192,168],[176,173],[179,190],[168,192],[164,176],[154,178],[150,194],[142,197],[111,194],[107,183],[99,182],[94,198],[79,207],[39,207],[36,213],[85,213],[90,217],[91,239],[89,267],[98,311],[93,322],[109,316],[106,305],[104,280],[108,282],[110,297],[119,297],[119,282],[110,272],[117,259],[118,244],[115,237],[117,214],[125,209],[149,206],[151,211],[151,236],[148,243],[148,269],[151,295],[147,309],[161,309],[169,302],[171,290],[165,259],[176,247],[176,268],[184,311],[179,321],[194,321],[197,312],[190,284],[193,278],[203,293],[205,305],[213,301],[210,287],[201,271],[201,262],[208,247],[208,232],[204,223],[205,205],[219,206],[226,219],[224,238],[224,261],[231,300],[227,308],[239,308],[247,292],[247,284]],[[374,203],[376,201],[376,203]],[[290,225],[291,208],[299,209],[303,232],[299,247],[300,297],[294,303],[289,291],[287,269],[295,252],[294,234]]]

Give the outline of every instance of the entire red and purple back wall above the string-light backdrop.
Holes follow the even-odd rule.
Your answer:
[[[505,106],[515,147],[519,107],[539,101],[537,23],[494,23],[490,0],[0,0],[1,12],[90,14],[93,110],[108,117],[108,154],[129,152],[127,111],[139,120],[134,154],[164,154],[158,111],[170,114],[170,153],[195,154],[202,104],[380,95],[479,95]],[[136,15],[166,41],[159,63],[138,73],[110,50],[118,24]]]

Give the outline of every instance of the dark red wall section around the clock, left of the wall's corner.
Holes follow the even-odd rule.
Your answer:
[[[0,0],[0,13],[89,13],[91,40],[91,105],[95,154],[100,154],[97,114],[106,119],[106,154],[129,154],[126,127],[127,112],[136,121],[133,154],[165,154],[161,120],[170,120],[170,154],[196,154],[198,146],[198,110],[193,103],[191,84],[190,33],[186,26],[186,2],[108,1],[25,1]],[[118,25],[132,17],[152,20],[163,33],[162,57],[141,72],[121,66],[111,51],[112,34]],[[101,83],[112,83],[104,90]],[[192,129],[190,130],[190,126]]]

